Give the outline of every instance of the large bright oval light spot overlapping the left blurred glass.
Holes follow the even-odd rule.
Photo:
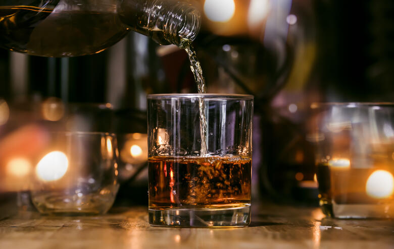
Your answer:
[[[43,181],[54,181],[62,178],[68,169],[67,156],[61,151],[46,154],[36,166],[36,174]]]

